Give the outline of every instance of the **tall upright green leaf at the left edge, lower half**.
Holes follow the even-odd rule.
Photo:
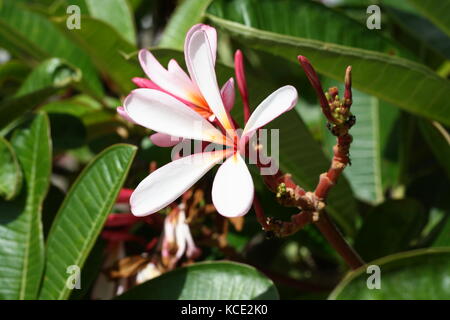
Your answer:
[[[0,298],[35,299],[44,269],[42,202],[51,172],[51,141],[45,114],[17,129],[12,145],[25,188],[12,202],[0,202]]]

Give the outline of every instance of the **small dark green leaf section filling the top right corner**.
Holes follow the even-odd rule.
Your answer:
[[[448,1],[409,0],[409,3],[450,36],[450,3]]]

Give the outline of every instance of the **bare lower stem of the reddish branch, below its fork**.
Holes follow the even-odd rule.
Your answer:
[[[320,213],[320,218],[316,222],[317,228],[328,240],[331,246],[339,253],[350,268],[353,270],[364,265],[364,261],[355,250],[345,241],[336,225],[331,221],[325,211]]]

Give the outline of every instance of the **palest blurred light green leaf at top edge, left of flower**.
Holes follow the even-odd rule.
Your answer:
[[[136,45],[133,15],[126,0],[85,0],[89,13],[109,24],[125,40]],[[83,26],[84,27],[84,26]]]

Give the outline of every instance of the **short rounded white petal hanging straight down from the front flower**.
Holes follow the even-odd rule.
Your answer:
[[[239,154],[229,157],[217,170],[212,187],[212,200],[225,217],[246,214],[253,202],[253,180]]]

